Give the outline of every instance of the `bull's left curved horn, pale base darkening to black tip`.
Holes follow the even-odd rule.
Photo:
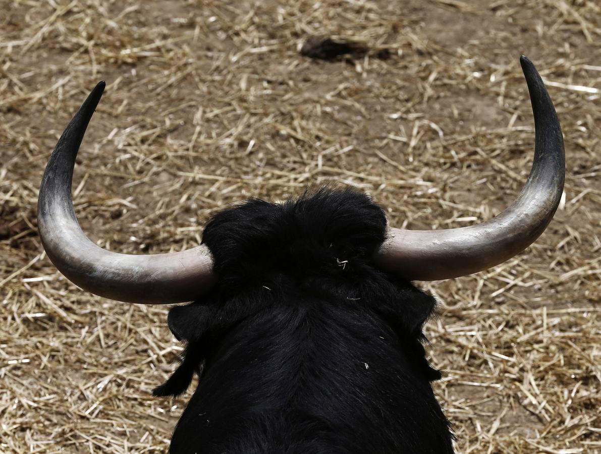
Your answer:
[[[96,85],[50,156],[38,196],[41,242],[67,279],[96,295],[127,303],[191,301],[213,282],[213,258],[206,246],[167,254],[121,254],[96,246],[79,226],[71,196],[73,167],[104,89],[104,82]]]

